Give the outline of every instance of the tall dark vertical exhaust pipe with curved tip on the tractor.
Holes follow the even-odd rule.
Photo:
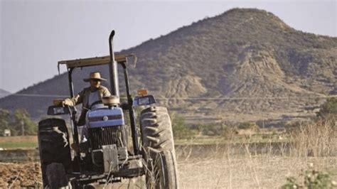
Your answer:
[[[117,62],[114,60],[114,30],[109,36],[109,51],[110,51],[110,63],[109,63],[109,74],[110,74],[110,88],[111,95],[119,97],[119,82],[117,73]]]

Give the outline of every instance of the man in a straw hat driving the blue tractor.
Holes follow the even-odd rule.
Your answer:
[[[101,77],[100,72],[91,72],[90,77],[85,78],[84,81],[90,82],[90,87],[84,88],[75,97],[64,99],[62,102],[63,106],[67,105],[71,107],[82,103],[82,112],[77,122],[78,126],[85,124],[85,115],[92,104],[102,102],[102,97],[109,97],[111,95],[107,87],[101,85],[101,82],[106,80]]]

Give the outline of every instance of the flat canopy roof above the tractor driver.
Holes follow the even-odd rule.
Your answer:
[[[127,63],[128,58],[134,58],[134,63],[137,61],[137,57],[134,54],[131,55],[115,55],[114,60],[117,63]],[[67,65],[67,68],[83,68],[95,65],[105,65],[110,63],[110,56],[101,56],[94,58],[80,58],[75,60],[62,60],[58,62],[58,66]]]

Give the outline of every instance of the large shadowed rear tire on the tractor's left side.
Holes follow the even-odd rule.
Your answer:
[[[38,122],[38,150],[40,152],[43,188],[49,185],[47,168],[58,163],[65,172],[72,171],[68,129],[63,119],[43,119]]]

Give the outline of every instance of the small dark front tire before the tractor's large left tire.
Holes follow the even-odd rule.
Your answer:
[[[72,188],[62,163],[50,163],[46,168],[48,188]]]

